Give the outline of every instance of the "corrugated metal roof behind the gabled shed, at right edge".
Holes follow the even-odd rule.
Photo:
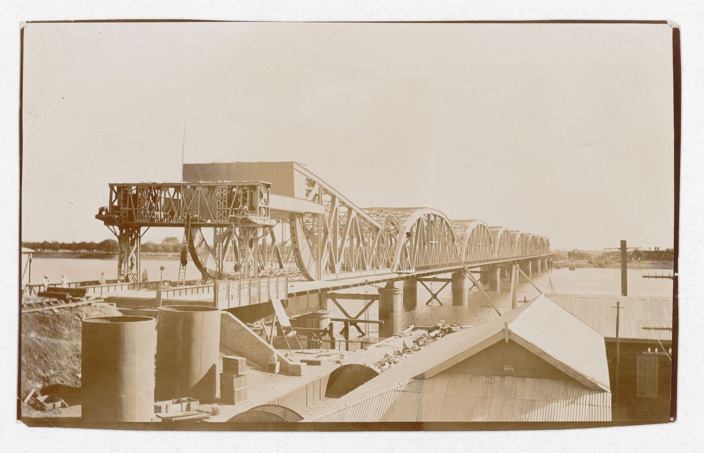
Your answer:
[[[672,341],[672,298],[608,295],[547,295],[605,338],[616,338],[616,302],[620,302],[622,339]]]

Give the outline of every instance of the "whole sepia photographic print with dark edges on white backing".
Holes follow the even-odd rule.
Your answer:
[[[677,24],[20,39],[30,430],[677,420]]]

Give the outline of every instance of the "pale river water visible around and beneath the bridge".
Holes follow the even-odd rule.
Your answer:
[[[163,266],[164,279],[177,279],[178,260],[142,259],[142,269],[146,269],[151,280],[158,280],[159,267]],[[93,260],[77,258],[50,258],[37,257],[32,260],[32,283],[41,283],[44,274],[49,275],[51,281],[61,281],[61,274],[65,272],[70,281],[97,280],[101,272],[105,272],[106,279],[113,279],[117,274],[117,259]],[[628,269],[629,295],[652,297],[672,297],[672,280],[670,279],[643,279],[646,274],[672,274],[672,269]],[[444,275],[445,277],[449,274]],[[187,279],[199,279],[198,269],[189,263],[187,266]],[[553,269],[550,272],[533,276],[533,281],[541,288],[543,293],[559,293],[572,295],[620,295],[621,271],[620,269],[605,268],[577,268],[572,271],[566,268]],[[553,288],[550,288],[552,283]],[[438,291],[443,283],[426,283],[433,291]],[[399,284],[400,287],[400,284]],[[365,286],[349,290],[351,293],[377,293],[377,288]],[[446,286],[439,294],[443,305],[434,300],[426,305],[429,299],[428,291],[418,284],[418,304],[414,310],[403,311],[403,325],[432,326],[439,321],[457,324],[480,324],[496,317],[494,306],[501,313],[508,312],[511,306],[510,283],[501,283],[501,291],[488,292],[491,302],[476,290],[470,291],[469,306],[454,307],[450,285]],[[517,286],[518,300],[530,300],[538,295],[533,286],[522,279]],[[347,300],[344,302],[345,310],[355,316],[364,307],[361,300]],[[368,309],[368,319],[379,319],[379,304],[375,302]],[[334,307],[335,317],[346,317],[338,307]],[[364,314],[361,316],[365,318]],[[375,324],[363,324],[365,333],[376,336],[378,328]],[[336,329],[337,330],[337,329]]]

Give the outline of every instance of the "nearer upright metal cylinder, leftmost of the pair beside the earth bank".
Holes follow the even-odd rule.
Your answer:
[[[83,320],[81,416],[84,422],[151,421],[155,326],[154,319],[149,317]]]

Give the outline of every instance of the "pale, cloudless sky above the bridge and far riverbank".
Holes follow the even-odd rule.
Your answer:
[[[108,183],[179,181],[183,146],[553,249],[673,244],[669,25],[30,23],[24,46],[23,241],[111,238]]]

